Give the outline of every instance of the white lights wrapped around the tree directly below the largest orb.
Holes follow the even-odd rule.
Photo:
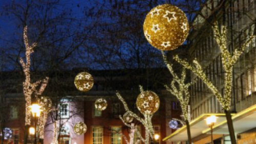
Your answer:
[[[188,120],[187,106],[188,106],[189,98],[190,98],[190,94],[188,92],[188,87],[191,84],[193,84],[194,82],[185,84],[186,69],[183,67],[181,77],[177,76],[177,74],[173,70],[172,64],[170,64],[167,61],[167,58],[163,52],[162,52],[162,56],[163,56],[164,63],[166,64],[168,70],[170,71],[170,74],[172,74],[172,76],[173,76],[173,80],[172,80],[170,86],[168,86],[168,85],[164,85],[164,86],[167,91],[169,91],[170,93],[175,95],[175,97],[179,100],[181,109],[182,109],[182,113],[184,116],[183,117],[184,121],[187,121]],[[178,86],[176,86],[175,83],[177,83]]]

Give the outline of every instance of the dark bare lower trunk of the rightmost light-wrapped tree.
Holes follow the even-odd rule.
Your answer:
[[[224,112],[226,114],[230,141],[232,144],[236,144],[237,142],[236,142],[236,136],[234,135],[234,127],[233,127],[233,122],[232,122],[232,118],[231,118],[231,113],[229,110],[224,110]]]

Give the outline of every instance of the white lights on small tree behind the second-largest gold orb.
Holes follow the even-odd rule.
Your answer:
[[[142,86],[140,86],[140,91],[143,92]],[[143,139],[141,135],[140,135],[140,138],[144,143],[149,143],[150,137],[153,139],[153,135],[155,133],[154,129],[153,129],[153,125],[152,125],[153,114],[143,114],[144,119],[142,119],[141,117],[139,117],[137,114],[135,114],[134,112],[132,112],[129,109],[129,107],[127,106],[126,102],[124,101],[124,99],[122,98],[122,96],[119,92],[116,92],[116,95],[117,95],[118,99],[123,103],[125,111],[130,113],[132,117],[136,118],[137,121],[139,121],[145,127],[145,130],[146,130],[145,139]],[[121,116],[119,116],[119,117],[126,126],[131,128],[131,126],[129,124],[124,122],[124,120]]]

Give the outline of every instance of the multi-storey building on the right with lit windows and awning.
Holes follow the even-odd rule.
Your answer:
[[[232,53],[241,48],[241,44],[250,35],[255,35],[256,2],[254,0],[232,1],[206,1],[201,8],[202,15],[197,15],[193,21],[193,30],[188,37],[188,55],[197,59],[204,69],[209,80],[223,94],[224,70],[222,67],[221,51],[213,37],[211,24],[218,21],[219,27],[227,27],[228,51]],[[255,143],[255,122],[253,114],[256,104],[256,39],[246,46],[244,54],[233,68],[233,87],[231,95],[231,112],[233,112],[233,126],[238,143]],[[196,75],[191,73],[191,81]],[[224,111],[202,80],[190,88],[191,94],[191,133],[194,143],[210,143],[209,129],[204,122],[206,116],[217,115],[216,127],[214,127],[214,143],[229,143],[227,125]],[[250,118],[249,118],[250,117]],[[198,127],[198,124],[201,124]],[[242,127],[239,127],[241,125]],[[201,128],[200,131],[193,131]],[[184,131],[169,135],[165,140],[184,141],[178,137]],[[193,133],[194,132],[194,133]]]

